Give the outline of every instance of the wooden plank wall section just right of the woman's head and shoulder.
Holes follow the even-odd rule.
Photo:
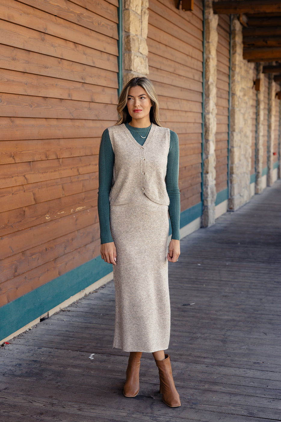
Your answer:
[[[203,70],[202,1],[193,12],[174,0],[150,0],[149,78],[159,95],[161,119],[179,135],[181,210],[201,202]]]

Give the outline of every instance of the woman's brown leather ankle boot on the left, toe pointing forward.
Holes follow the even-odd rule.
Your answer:
[[[139,392],[139,367],[142,352],[131,352],[126,371],[126,382],[123,388],[125,397],[136,397]]]

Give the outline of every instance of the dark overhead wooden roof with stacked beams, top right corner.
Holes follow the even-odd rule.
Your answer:
[[[281,0],[213,1],[213,9],[216,14],[239,15],[244,59],[281,62]]]

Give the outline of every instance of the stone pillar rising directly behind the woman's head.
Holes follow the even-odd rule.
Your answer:
[[[135,76],[147,76],[148,0],[125,0],[124,18],[124,71],[125,85]]]

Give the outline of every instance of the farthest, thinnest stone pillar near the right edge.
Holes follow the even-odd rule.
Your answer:
[[[273,143],[274,143],[274,117],[275,117],[275,83],[273,75],[269,75],[269,139],[268,139],[268,175],[267,185],[273,185]]]

